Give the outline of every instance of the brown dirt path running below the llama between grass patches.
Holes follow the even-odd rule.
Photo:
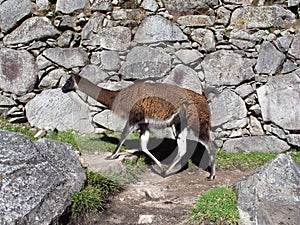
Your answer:
[[[247,173],[239,170],[217,171],[214,181],[206,181],[208,173],[196,166],[167,178],[147,169],[139,175],[137,183],[125,186],[124,191],[113,196],[104,212],[81,218],[72,224],[191,224],[187,219],[203,192],[213,187],[231,185]]]

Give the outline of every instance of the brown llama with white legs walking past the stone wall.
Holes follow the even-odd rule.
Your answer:
[[[101,88],[78,74],[73,74],[62,87],[63,93],[80,90],[107,106],[115,114],[127,120],[119,143],[108,159],[119,156],[121,146],[128,135],[138,127],[140,150],[147,154],[165,175],[180,162],[187,151],[187,134],[192,131],[210,155],[210,175],[215,178],[216,148],[210,139],[211,123],[208,102],[204,95],[189,89],[163,83],[141,82],[121,90]],[[167,170],[147,149],[149,125],[172,127],[178,146],[178,153]]]

